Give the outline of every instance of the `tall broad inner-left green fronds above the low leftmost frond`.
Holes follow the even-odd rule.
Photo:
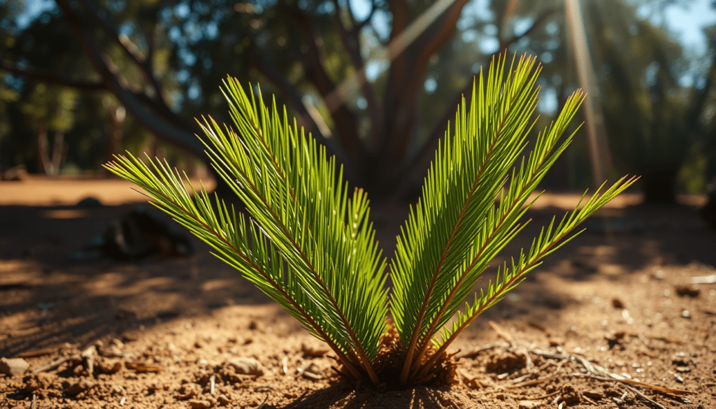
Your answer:
[[[216,170],[319,308],[324,330],[347,354],[372,360],[387,294],[365,193],[349,195],[335,159],[275,101],[267,107],[260,91],[249,95],[231,78],[225,86],[236,132],[200,123]]]

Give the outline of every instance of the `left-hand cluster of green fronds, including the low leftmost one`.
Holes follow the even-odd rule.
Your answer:
[[[387,291],[367,195],[349,194],[334,158],[295,120],[289,124],[285,109],[279,115],[275,102],[267,107],[260,92],[247,94],[236,80],[225,85],[236,131],[211,117],[200,126],[214,168],[251,220],[220,202],[215,213],[203,190],[193,203],[166,164],[130,156],[107,168],[144,188],[217,256],[371,375]]]

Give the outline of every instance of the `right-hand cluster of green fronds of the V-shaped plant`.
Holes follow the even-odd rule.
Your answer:
[[[516,65],[513,61],[505,78],[505,59],[493,62],[486,80],[480,72],[470,107],[465,101],[458,107],[455,135],[446,133],[425,178],[422,198],[402,228],[391,265],[391,310],[407,353],[404,382],[415,374],[410,369],[431,340],[442,345],[434,340],[441,330],[447,336],[443,340],[450,339],[452,332],[443,327],[456,313],[460,327],[474,319],[473,309],[489,307],[500,298],[488,294],[459,311],[489,262],[521,231],[520,219],[533,203],[528,198],[571,143],[574,133],[562,135],[584,99],[581,92],[569,97],[556,121],[538,133],[534,150],[520,159],[533,125],[539,71],[534,59],[522,58]],[[612,189],[616,186],[619,183]],[[588,203],[576,220],[609,201],[611,193],[605,193],[605,201]],[[544,243],[555,246],[553,239],[562,239],[576,226],[572,221],[560,224],[556,232],[548,228],[536,248],[543,249]],[[518,259],[518,269],[522,262]],[[503,278],[513,283],[510,274]],[[510,284],[494,291],[504,294],[512,288]]]

